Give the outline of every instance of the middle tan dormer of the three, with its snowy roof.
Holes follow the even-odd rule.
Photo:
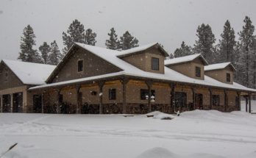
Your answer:
[[[201,54],[193,54],[165,60],[165,65],[191,78],[203,80],[205,79],[204,67],[208,64]]]

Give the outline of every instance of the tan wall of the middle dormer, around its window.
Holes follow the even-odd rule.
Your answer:
[[[201,68],[201,77],[196,76],[196,66]],[[179,73],[189,76],[194,79],[205,79],[205,68],[202,62],[186,62],[179,65],[169,65],[168,68],[173,69]]]

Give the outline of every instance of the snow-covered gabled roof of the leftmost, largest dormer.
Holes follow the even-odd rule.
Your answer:
[[[154,46],[157,47],[157,49],[159,49],[160,52],[165,57],[169,56],[169,54],[166,52],[166,50],[164,50],[163,47],[161,47],[158,43],[150,43],[150,44],[147,44],[147,45],[144,45],[144,46],[138,46],[138,47],[135,47],[135,48],[132,48],[132,49],[127,49],[127,50],[124,50],[124,51],[119,51],[120,54],[118,54],[117,57],[127,57],[127,56],[130,56],[132,54],[138,54],[141,51],[146,51],[147,49],[151,49]]]

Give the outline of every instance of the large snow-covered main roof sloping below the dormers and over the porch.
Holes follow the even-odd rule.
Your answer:
[[[243,91],[253,91],[256,92],[255,89],[251,89],[248,87],[244,87],[243,85],[239,85],[238,83],[233,82],[233,84],[226,84],[223,82],[219,82],[216,79],[213,79],[209,76],[205,76],[205,79],[193,79],[191,77],[185,76],[182,73],[179,73],[177,71],[172,70],[171,68],[168,68],[165,66],[165,73],[152,73],[143,71],[139,68],[136,68],[134,65],[129,64],[128,62],[125,62],[124,60],[121,60],[118,55],[121,53],[121,51],[115,51],[111,49],[104,49],[97,46],[90,46],[82,43],[75,43],[75,45],[81,47],[82,49],[85,49],[87,51],[90,51],[92,54],[95,54],[98,57],[101,57],[103,60],[106,60],[107,62],[112,63],[113,65],[117,66],[118,68],[121,68],[122,71],[119,71],[117,73],[107,73],[104,75],[99,76],[90,76],[82,79],[73,79],[68,80],[65,82],[56,82],[51,83],[47,85],[39,85],[36,87],[31,87],[29,90],[35,90],[45,87],[58,87],[62,85],[71,85],[74,83],[82,83],[82,82],[90,82],[98,79],[105,79],[105,78],[113,78],[115,76],[135,76],[135,77],[143,77],[147,79],[159,79],[163,81],[170,81],[170,82],[185,82],[189,84],[195,84],[195,85],[206,85],[210,87],[223,87],[233,90],[243,90]],[[192,57],[188,57],[191,59],[196,59],[196,57],[200,57],[201,54],[195,54],[192,55]],[[184,57],[182,57],[184,58]],[[176,58],[177,59],[177,58]],[[183,60],[185,61],[185,60]],[[187,60],[188,61],[188,60]]]

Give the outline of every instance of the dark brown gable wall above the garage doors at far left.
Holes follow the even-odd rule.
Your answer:
[[[0,83],[0,90],[24,86],[21,80],[4,63],[0,65]]]

